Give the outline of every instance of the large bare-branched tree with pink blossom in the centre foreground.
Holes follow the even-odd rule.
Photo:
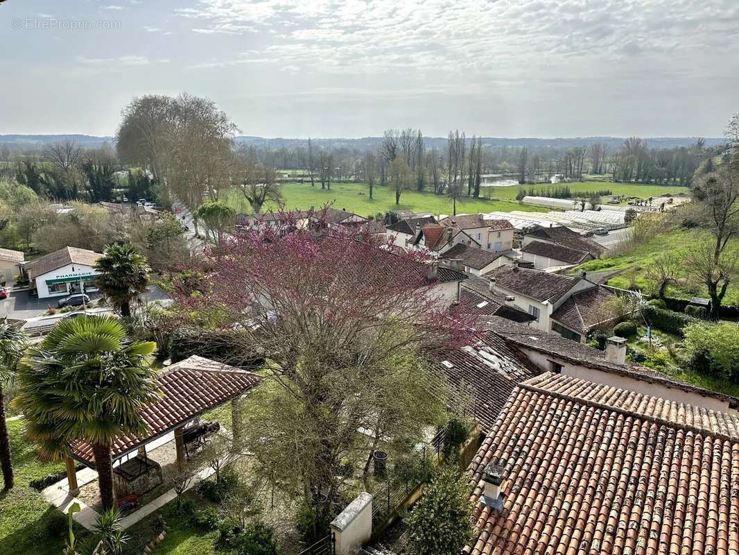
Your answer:
[[[180,283],[188,325],[238,330],[245,359],[264,355],[243,435],[265,477],[307,500],[316,533],[347,468],[366,477],[376,449],[409,451],[446,405],[424,358],[466,343],[472,322],[439,300],[433,268],[361,224],[286,212],[208,250]]]

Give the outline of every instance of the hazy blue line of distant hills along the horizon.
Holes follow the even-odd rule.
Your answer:
[[[44,144],[55,143],[72,139],[85,148],[98,148],[104,143],[114,144],[115,137],[95,135],[0,135],[0,147],[7,146],[12,150],[38,149]],[[695,137],[652,137],[644,138],[651,147],[687,147],[694,144]],[[316,147],[334,147],[367,150],[375,149],[382,141],[381,137],[363,138],[315,138],[313,144]],[[446,137],[425,137],[427,147],[446,147]],[[624,141],[624,137],[574,137],[574,138],[505,138],[505,137],[483,137],[483,144],[491,147],[541,147],[562,149],[579,147],[593,143],[605,143],[609,147],[618,147]],[[712,147],[723,144],[725,141],[718,137],[705,138],[706,146]],[[242,135],[236,137],[240,144],[250,144],[255,147],[268,147],[273,149],[307,146],[307,138],[264,138]]]

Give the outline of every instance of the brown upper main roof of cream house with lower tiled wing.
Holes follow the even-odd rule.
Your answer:
[[[514,293],[520,293],[542,303],[548,300],[555,303],[565,296],[582,278],[551,274],[529,268],[518,268],[512,264],[498,266],[486,273],[485,277],[495,278],[496,286]]]

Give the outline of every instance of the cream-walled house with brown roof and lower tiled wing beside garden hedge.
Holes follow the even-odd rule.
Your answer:
[[[569,326],[572,316],[566,318],[565,321],[560,321],[553,319],[554,313],[576,293],[599,287],[582,275],[552,274],[537,269],[520,268],[515,263],[499,266],[492,272],[488,272],[485,277],[491,282],[493,292],[499,292],[506,297],[514,297],[515,306],[534,316],[535,321],[531,323],[531,326],[544,332],[554,331],[559,334],[563,333],[562,329],[569,329],[573,334],[577,332]],[[582,297],[578,306],[582,307],[588,301],[594,303],[596,300],[603,300],[604,295],[608,295],[608,292],[597,297]],[[588,323],[592,323],[593,319],[597,320],[598,314],[602,316],[601,320],[605,320],[608,314],[607,306],[591,304],[590,308],[594,313],[588,316]],[[558,312],[559,317],[562,317],[562,314]],[[585,334],[581,335],[580,340],[585,341]]]

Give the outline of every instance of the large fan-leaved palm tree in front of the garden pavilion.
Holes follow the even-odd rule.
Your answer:
[[[146,434],[140,411],[157,399],[155,343],[133,342],[111,317],[61,320],[18,367],[14,406],[41,455],[58,460],[76,440],[92,445],[104,508],[113,506],[111,445]]]

